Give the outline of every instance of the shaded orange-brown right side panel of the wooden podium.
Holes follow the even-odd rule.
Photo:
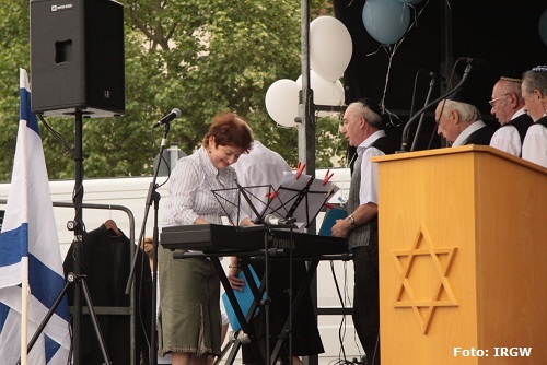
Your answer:
[[[547,363],[547,174],[476,154],[478,337],[485,349],[532,348]],[[498,354],[501,350],[492,350]],[[489,356],[485,364],[500,357]]]

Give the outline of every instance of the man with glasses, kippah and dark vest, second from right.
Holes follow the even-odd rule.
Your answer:
[[[490,140],[490,145],[514,156],[521,156],[522,143],[532,118],[524,111],[524,99],[521,97],[521,76],[505,72],[492,89],[490,114],[501,125]]]

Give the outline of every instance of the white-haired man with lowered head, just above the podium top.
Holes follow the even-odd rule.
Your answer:
[[[496,129],[481,120],[475,105],[467,103],[462,93],[455,93],[437,105],[437,133],[453,146],[466,144],[490,144]]]

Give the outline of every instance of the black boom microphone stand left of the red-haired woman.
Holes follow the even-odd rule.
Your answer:
[[[170,131],[170,122],[166,121],[163,128],[163,137],[162,137],[162,142],[160,145],[160,158],[154,167],[154,176],[152,178],[152,182],[150,182],[149,189],[148,189],[148,196],[147,196],[147,201],[146,201],[146,208],[144,208],[144,217],[142,220],[142,225],[141,225],[141,231],[139,234],[139,240],[138,240],[138,247],[141,246],[141,243],[144,242],[144,231],[147,227],[147,221],[148,221],[148,214],[150,212],[150,205],[152,205],[152,202],[154,202],[154,227],[153,227],[153,235],[152,235],[152,243],[153,243],[153,261],[152,261],[152,321],[151,321],[151,329],[150,329],[150,352],[149,352],[149,360],[150,360],[150,365],[156,365],[158,364],[158,351],[156,351],[156,331],[155,331],[155,326],[156,326],[156,293],[158,293],[158,246],[159,246],[159,225],[158,225],[158,207],[160,203],[160,193],[158,192],[158,184],[155,184],[158,179],[158,175],[160,173],[160,165],[161,161],[163,160],[163,151],[165,150],[165,144],[167,140],[167,133]],[[137,248],[138,249],[138,248]],[[131,263],[131,271],[129,273],[129,279],[127,280],[127,285],[126,285],[126,295],[129,294],[131,291],[131,284],[133,281],[133,275],[135,275],[135,268],[137,266],[137,257],[138,255],[136,254],[133,256],[133,261]]]

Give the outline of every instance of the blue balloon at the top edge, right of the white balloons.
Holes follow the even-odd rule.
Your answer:
[[[410,7],[397,0],[368,0],[363,7],[366,32],[383,45],[403,38],[410,24]]]

